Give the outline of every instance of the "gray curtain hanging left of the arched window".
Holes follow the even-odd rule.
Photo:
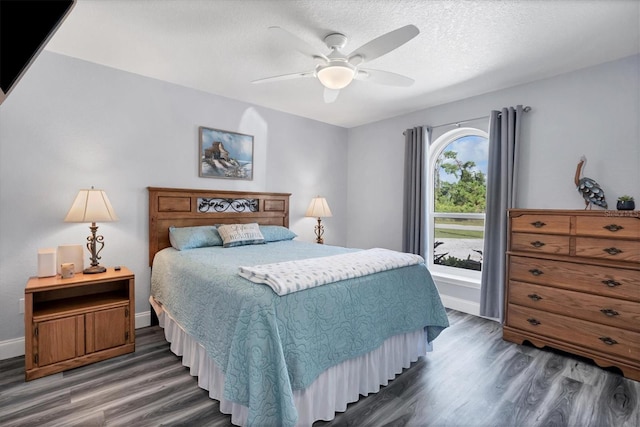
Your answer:
[[[426,187],[427,152],[430,129],[415,127],[404,132],[404,217],[402,222],[402,250],[426,256]]]

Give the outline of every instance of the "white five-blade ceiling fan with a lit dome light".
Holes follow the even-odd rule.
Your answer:
[[[347,87],[353,80],[370,81],[387,86],[411,86],[413,84],[413,79],[407,76],[390,71],[361,68],[361,65],[397,49],[417,36],[420,30],[415,25],[405,25],[383,34],[349,54],[342,53],[342,48],[347,44],[347,36],[341,33],[331,33],[324,38],[324,43],[330,50],[327,55],[315,52],[315,48],[307,42],[281,27],[269,27],[269,30],[280,42],[311,57],[317,62],[317,65],[313,70],[267,77],[254,80],[251,83],[314,77],[324,86],[324,100],[327,103],[334,102],[338,98],[340,89]]]

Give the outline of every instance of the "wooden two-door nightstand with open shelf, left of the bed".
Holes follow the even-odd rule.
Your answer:
[[[125,267],[31,277],[24,291],[26,380],[133,352],[134,282]]]

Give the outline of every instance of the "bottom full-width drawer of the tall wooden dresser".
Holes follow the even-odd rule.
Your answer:
[[[640,358],[640,333],[574,319],[515,304],[507,306],[507,324],[552,339],[623,357],[637,363]]]

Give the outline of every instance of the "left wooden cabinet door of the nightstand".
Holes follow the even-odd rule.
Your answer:
[[[47,366],[82,356],[84,345],[79,345],[84,335],[82,316],[47,320],[35,325],[35,360],[38,366]],[[79,348],[81,347],[81,348]]]

